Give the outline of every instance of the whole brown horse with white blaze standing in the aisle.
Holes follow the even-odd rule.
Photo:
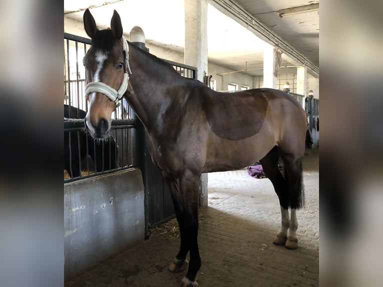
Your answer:
[[[126,41],[116,11],[110,29],[98,30],[89,10],[83,20],[92,39],[83,60],[87,128],[93,137],[107,137],[111,112],[122,96],[142,121],[151,158],[169,185],[179,224],[180,248],[170,271],[182,271],[190,251],[181,286],[197,285],[195,275],[201,265],[197,217],[202,172],[243,168],[260,160],[280,202],[281,228],[273,242],[296,248],[295,210],[303,205],[301,160],[306,132],[306,115],[298,102],[276,89],[222,93],[184,78]],[[279,156],[284,176],[278,171]]]

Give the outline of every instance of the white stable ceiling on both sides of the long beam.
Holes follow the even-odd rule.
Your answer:
[[[215,8],[220,0],[208,5],[207,35],[209,61],[250,75],[262,75],[264,42],[253,32]],[[263,22],[276,34],[318,67],[319,15],[318,10],[279,17],[280,10],[315,4],[318,0],[235,0],[249,14]],[[113,9],[121,16],[125,32],[138,25],[147,43],[183,52],[183,0],[64,0],[65,18],[82,21],[83,10],[91,8],[99,28],[109,27]],[[279,12],[278,12],[279,11]],[[301,63],[282,54],[280,72],[296,72]],[[313,74],[314,75],[314,74]],[[317,75],[315,75],[317,76]]]

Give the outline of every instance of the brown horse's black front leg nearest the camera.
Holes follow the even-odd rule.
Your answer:
[[[198,250],[198,198],[199,198],[199,178],[200,174],[195,174],[190,170],[185,170],[182,176],[177,178],[178,192],[174,194],[174,207],[177,209],[177,220],[181,237],[181,247],[175,257],[175,262],[170,265],[170,269],[177,264],[178,260],[186,260],[187,251],[190,251],[190,262],[187,273],[182,279],[181,287],[197,286],[195,276],[201,266],[201,259]],[[175,189],[174,189],[175,191]],[[178,203],[180,203],[178,205]],[[176,206],[177,205],[177,206]],[[185,262],[185,261],[184,261]]]

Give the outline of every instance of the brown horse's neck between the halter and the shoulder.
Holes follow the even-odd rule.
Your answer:
[[[166,113],[183,77],[129,43],[129,104],[149,132],[160,133]],[[172,92],[171,92],[172,91]]]

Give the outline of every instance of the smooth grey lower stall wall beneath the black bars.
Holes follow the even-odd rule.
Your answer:
[[[64,280],[144,240],[141,171],[64,184]]]

